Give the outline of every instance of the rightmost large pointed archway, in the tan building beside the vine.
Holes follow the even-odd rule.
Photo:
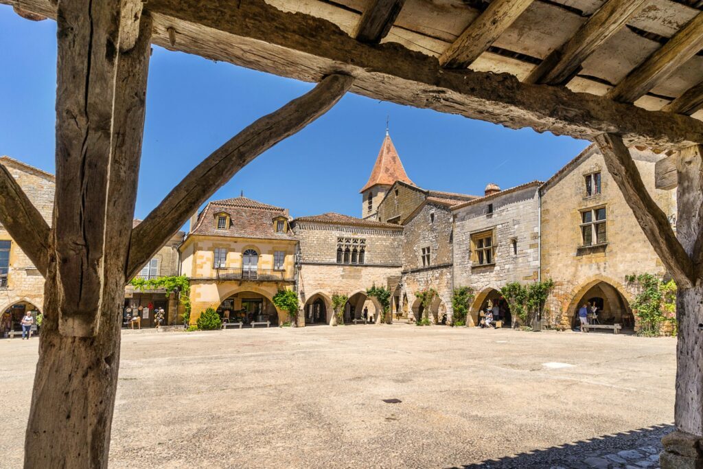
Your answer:
[[[624,328],[633,327],[634,317],[630,302],[624,290],[616,285],[616,282],[604,278],[595,278],[581,285],[572,295],[565,311],[569,325],[572,328],[579,327],[579,309],[586,305],[591,314],[589,322],[595,319],[600,324],[621,324]]]

